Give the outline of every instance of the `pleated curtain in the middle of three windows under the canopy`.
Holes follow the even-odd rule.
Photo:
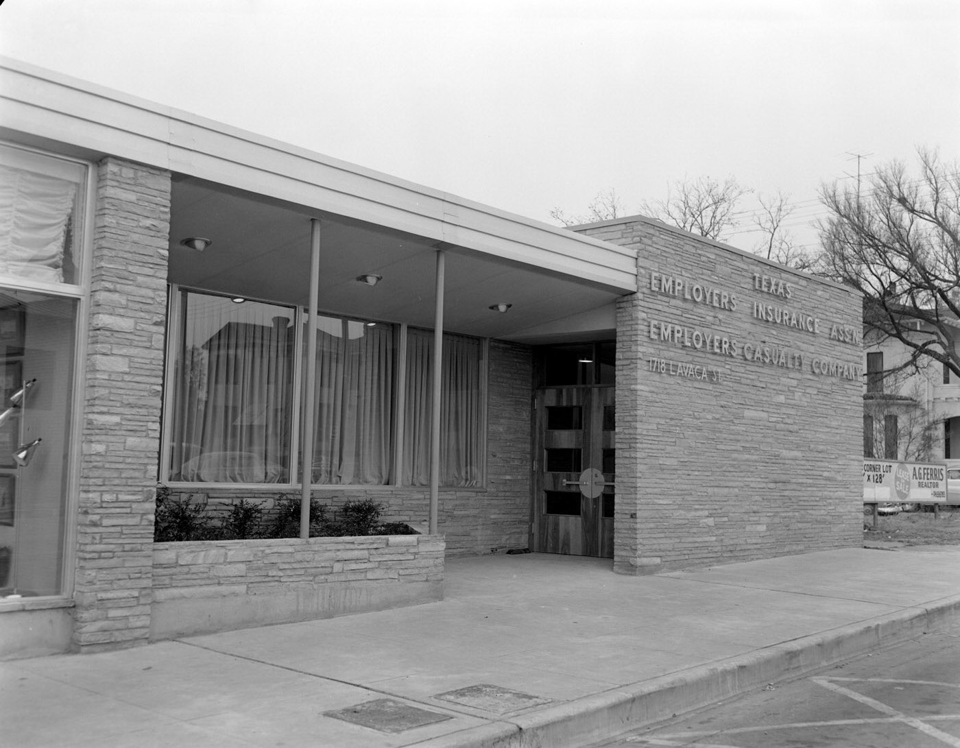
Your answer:
[[[394,428],[393,328],[329,317],[320,326],[311,480],[386,484]]]

